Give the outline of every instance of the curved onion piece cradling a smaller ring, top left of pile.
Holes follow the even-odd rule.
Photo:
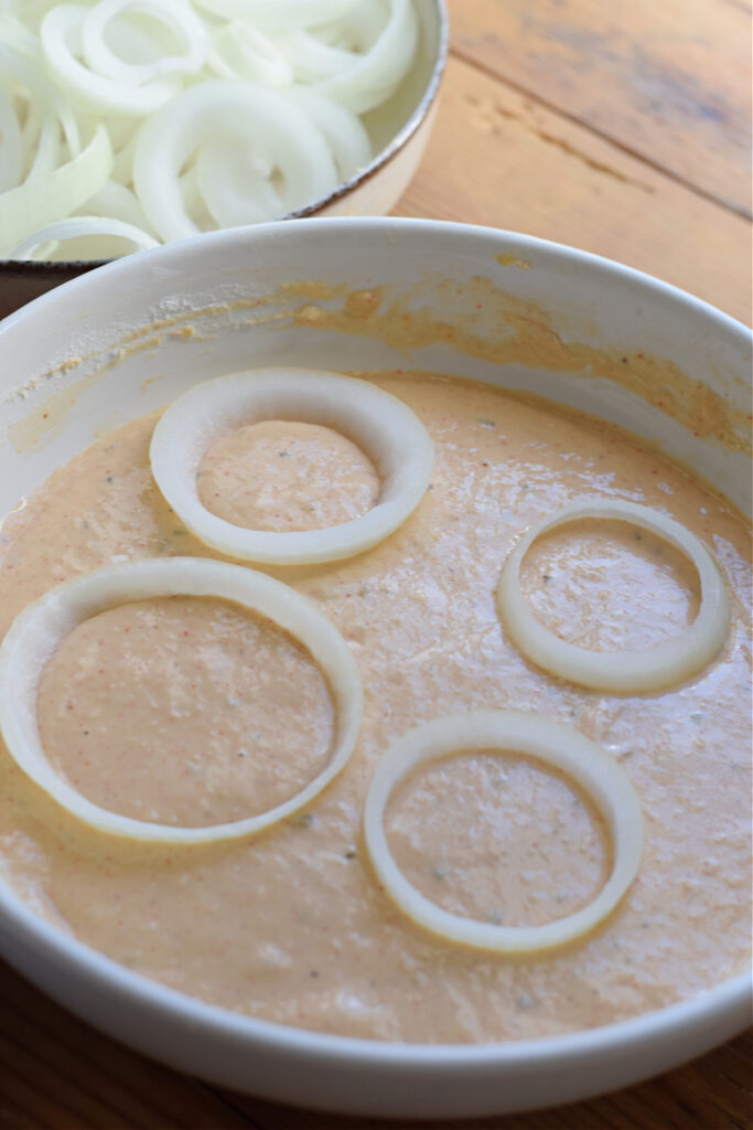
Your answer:
[[[79,32],[89,8],[61,3],[42,20],[40,36],[50,75],[59,86],[93,113],[143,118],[168,102],[181,88],[177,77],[155,79],[143,86],[115,82],[85,67],[71,51],[68,37]]]

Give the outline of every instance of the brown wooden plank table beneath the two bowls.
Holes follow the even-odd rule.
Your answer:
[[[621,260],[751,316],[750,0],[449,0],[435,133],[396,211]],[[653,1083],[446,1130],[745,1130],[751,1037]],[[6,1130],[378,1130],[143,1060],[0,964]]]

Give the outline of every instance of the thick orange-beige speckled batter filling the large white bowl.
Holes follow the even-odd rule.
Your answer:
[[[469,381],[399,372],[362,379],[426,427],[435,445],[426,494],[361,554],[262,566],[317,606],[358,666],[364,716],[342,772],[260,834],[137,843],[71,817],[0,748],[3,876],[40,913],[146,976],[252,1016],[379,1040],[579,1031],[742,972],[750,954],[750,527],[685,469],[596,419]],[[94,444],[6,520],[0,634],[61,581],[113,559],[227,560],[187,531],[155,484],[157,419]],[[247,433],[257,450],[259,433]],[[262,438],[265,468],[273,466],[269,444],[300,455],[295,421],[277,421]],[[325,460],[326,431],[315,438]],[[231,495],[244,442],[236,434],[233,450],[226,444],[211,463],[210,452],[201,468],[212,483],[204,504],[238,525],[243,506],[234,508]],[[333,444],[342,450],[340,437]],[[344,454],[353,508],[342,496],[322,508],[322,476],[296,478],[299,528],[347,522],[376,505],[374,461]],[[277,458],[284,464],[288,457]],[[284,507],[291,481],[288,468],[274,498],[268,478],[270,513]],[[497,585],[525,531],[599,498],[660,512],[719,568],[725,640],[677,685],[588,689],[526,659],[500,623]],[[248,524],[257,516],[248,512]],[[575,520],[542,533],[520,562],[519,584],[550,632],[596,651],[657,646],[681,635],[700,606],[688,557],[627,521]],[[572,727],[620,764],[640,800],[637,877],[604,922],[564,947],[520,956],[445,940],[403,914],[369,862],[364,805],[385,753],[420,723],[471,711]],[[326,763],[336,729],[326,679],[306,649],[237,606],[190,597],[125,603],[100,614],[96,631],[94,620],[82,625],[45,669],[38,722],[50,760],[82,796],[135,818],[196,827],[284,801]],[[589,797],[516,749],[463,749],[417,765],[391,794],[383,825],[417,890],[485,923],[537,927],[573,915],[612,870],[610,832]]]

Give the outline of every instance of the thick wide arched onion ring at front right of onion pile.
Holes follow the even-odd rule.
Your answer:
[[[133,185],[163,240],[198,233],[181,199],[178,174],[196,149],[229,137],[242,139],[280,171],[289,210],[338,184],[322,133],[281,94],[221,79],[202,82],[150,118],[139,134]]]

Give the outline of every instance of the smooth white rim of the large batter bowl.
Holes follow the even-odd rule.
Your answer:
[[[506,250],[517,250],[522,254],[541,252],[557,264],[581,266],[597,275],[619,277],[623,281],[639,286],[647,296],[653,295],[657,299],[678,303],[697,316],[710,319],[721,332],[732,333],[741,342],[744,338],[750,348],[751,330],[703,299],[614,260],[520,233],[432,219],[331,217],[317,218],[313,224],[310,220],[298,219],[292,223],[277,220],[256,225],[243,229],[242,242],[253,246],[254,241],[260,238],[295,240],[299,226],[301,232],[308,232],[309,235],[327,229],[341,231],[343,226],[352,233],[352,236],[356,236],[359,229],[364,233],[385,234],[410,229],[439,234],[441,238],[450,242],[454,238],[463,240],[466,245],[471,241],[472,244],[488,246],[492,241],[492,245],[504,245]],[[216,251],[221,252],[225,245],[229,250],[233,245],[237,252],[238,232],[228,229],[207,233],[180,243],[113,260],[103,269],[116,277],[119,272],[139,271],[148,267],[149,260],[152,259],[160,264],[165,260],[172,260],[175,266],[186,257],[201,258],[203,249],[210,243]],[[27,318],[44,316],[49,303],[60,303],[61,297],[75,297],[77,288],[82,288],[86,293],[87,287],[96,287],[97,280],[89,278],[87,281],[87,275],[41,295],[10,314],[0,323],[0,340],[8,331],[12,331],[16,327],[20,328],[20,323]],[[64,308],[67,302],[61,305]],[[37,916],[1,876],[0,932],[11,933],[25,949],[34,950],[37,956],[59,971],[82,976],[96,988],[111,994],[129,998],[145,1009],[152,1009],[170,1019],[184,1022],[204,1036],[225,1035],[242,1042],[244,1046],[263,1045],[289,1053],[296,1052],[308,1060],[318,1060],[322,1063],[339,1062],[352,1067],[382,1064],[401,1075],[410,1074],[421,1067],[441,1068],[443,1071],[467,1071],[469,1068],[483,1071],[489,1068],[509,1069],[522,1064],[571,1067],[584,1061],[595,1062],[595,1055],[630,1052],[645,1046],[647,1042],[664,1041],[686,1028],[701,1031],[708,1026],[712,1027],[715,1022],[724,1022],[727,1034],[732,1035],[736,1031],[742,1031],[750,1023],[751,1016],[751,972],[745,968],[729,980],[701,990],[692,998],[624,1020],[576,1032],[485,1044],[382,1041],[334,1035],[260,1019],[222,1006],[210,1005],[163,985],[106,957],[85,942],[68,937]]]

